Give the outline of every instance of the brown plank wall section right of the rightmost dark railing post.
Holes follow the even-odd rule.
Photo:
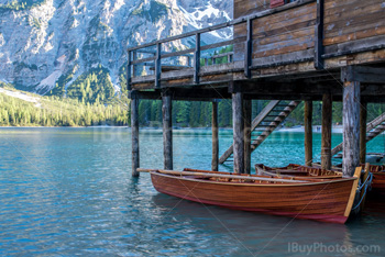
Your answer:
[[[324,0],[323,45],[385,34],[383,0]]]

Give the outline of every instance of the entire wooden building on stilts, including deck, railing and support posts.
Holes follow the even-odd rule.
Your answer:
[[[311,101],[322,100],[323,168],[331,165],[332,101],[343,102],[343,172],[353,176],[360,148],[365,150],[360,127],[365,135],[366,103],[385,101],[384,13],[383,0],[234,0],[231,22],[129,48],[133,175],[140,166],[140,99],[163,100],[165,169],[173,168],[172,100],[212,101],[212,169],[218,169],[213,100],[227,98],[233,107],[234,172],[250,171],[250,101],[285,99],[306,101],[307,132]],[[232,40],[201,44],[205,34],[226,27],[233,27]],[[170,51],[184,40],[195,46]],[[233,52],[217,57],[228,56],[227,64],[205,62],[202,53],[224,46]],[[306,135],[306,161],[311,163],[311,133]]]

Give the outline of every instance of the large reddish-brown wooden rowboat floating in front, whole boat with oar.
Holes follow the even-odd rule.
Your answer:
[[[195,202],[344,223],[352,210],[361,170],[358,168],[353,178],[328,180],[205,170],[152,170],[151,179],[157,191]]]

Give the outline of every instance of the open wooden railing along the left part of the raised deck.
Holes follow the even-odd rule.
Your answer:
[[[184,68],[189,68],[193,69],[193,76],[194,76],[194,83],[198,85],[200,82],[200,68],[201,68],[201,60],[204,60],[205,65],[208,65],[209,62],[206,58],[201,58],[202,55],[201,53],[204,51],[208,51],[208,49],[216,49],[219,47],[223,47],[223,46],[230,46],[237,43],[244,43],[246,45],[245,47],[245,60],[244,60],[244,74],[245,77],[250,78],[251,76],[251,68],[252,68],[252,21],[262,16],[266,16],[266,15],[271,15],[277,12],[282,12],[295,7],[300,7],[310,2],[315,2],[315,0],[298,0],[278,8],[274,8],[274,9],[270,9],[263,12],[258,12],[252,15],[248,15],[248,16],[243,16],[233,21],[229,21],[226,23],[221,23],[218,25],[213,25],[210,27],[206,27],[206,29],[201,29],[201,30],[197,30],[194,32],[188,32],[182,35],[177,35],[177,36],[170,36],[168,38],[163,38],[156,42],[152,42],[148,44],[144,44],[144,45],[140,45],[140,46],[135,46],[135,47],[131,47],[128,49],[128,55],[129,55],[129,62],[128,62],[128,89],[131,90],[131,83],[132,83],[132,78],[136,75],[135,74],[135,69],[138,65],[143,65],[143,66],[152,66],[153,70],[154,70],[154,83],[155,83],[155,88],[160,88],[161,87],[161,74],[162,74],[162,60],[165,58],[170,58],[170,57],[180,57],[180,56],[185,56],[187,58],[187,65]],[[232,27],[234,25],[238,24],[243,24],[243,23],[248,23],[248,38],[246,41],[244,41],[242,37],[235,38],[235,40],[229,40],[229,41],[223,41],[223,42],[219,42],[219,43],[215,43],[215,44],[209,44],[209,45],[201,45],[201,35],[205,33],[210,33],[213,31],[218,31],[221,29],[227,29],[227,27]],[[188,48],[188,49],[183,49],[183,51],[176,51],[173,53],[168,53],[168,52],[162,52],[162,46],[164,44],[167,43],[172,43],[175,41],[180,41],[180,40],[186,40],[188,37],[195,37],[195,48]],[[146,48],[148,47],[155,47],[155,51],[147,51]],[[139,58],[139,54],[151,54],[152,56],[150,57],[145,57],[145,58]],[[212,64],[216,64],[216,59],[223,57],[223,56],[228,56],[228,63],[232,63],[233,62],[233,53],[224,53],[223,55],[218,55],[218,56],[211,56],[210,58],[212,58]],[[194,62],[191,62],[191,58],[194,59]],[[191,64],[194,63],[194,64]],[[175,65],[176,66],[176,65]],[[180,67],[179,67],[180,68]],[[179,69],[178,67],[176,67],[176,70]],[[169,68],[170,69],[170,68]]]

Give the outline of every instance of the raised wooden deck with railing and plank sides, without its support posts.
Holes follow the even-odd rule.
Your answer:
[[[235,8],[231,22],[129,48],[129,89],[146,90],[140,96],[148,99],[173,88],[180,100],[231,98],[239,91],[246,99],[320,100],[331,93],[341,100],[341,70],[359,66],[354,72],[363,98],[384,100],[382,0],[299,0],[251,14],[248,4],[237,5],[245,10]],[[205,34],[224,27],[233,27],[232,40],[201,45]],[[166,51],[183,40],[195,47]],[[226,46],[233,47],[226,64],[210,64],[202,54]],[[172,68],[173,60],[178,68]]]

